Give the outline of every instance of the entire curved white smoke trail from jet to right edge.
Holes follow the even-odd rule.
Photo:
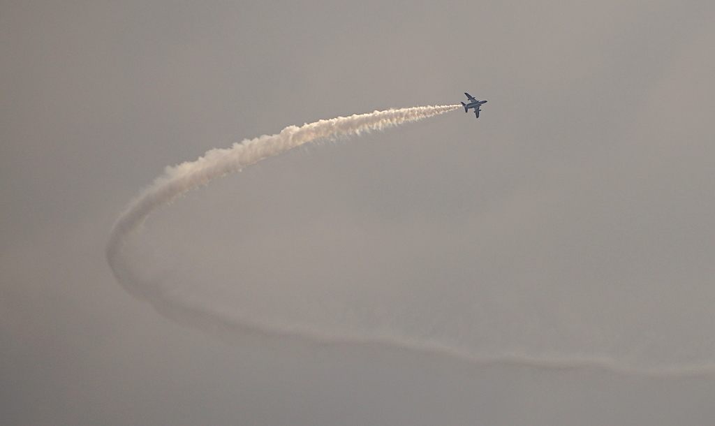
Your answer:
[[[331,342],[332,345],[361,345],[362,347],[405,347],[410,350],[430,352],[436,355],[480,363],[514,363],[546,368],[591,367],[611,372],[645,373],[649,375],[678,376],[715,375],[715,365],[671,368],[633,368],[633,365],[619,362],[611,357],[528,357],[516,354],[475,355],[457,347],[440,342],[408,339],[394,335],[338,335],[332,330],[320,329],[317,325],[269,325],[257,322],[251,317],[241,317],[237,312],[223,312],[221,309],[187,294],[172,292],[161,282],[148,279],[132,259],[127,241],[142,225],[145,219],[160,207],[169,204],[189,189],[208,184],[213,179],[267,157],[285,152],[315,139],[342,137],[373,129],[385,129],[404,122],[412,122],[436,114],[443,114],[459,108],[459,105],[420,106],[405,109],[375,111],[370,114],[337,117],[305,124],[302,127],[290,126],[272,136],[262,136],[234,144],[230,149],[212,149],[204,157],[194,162],[185,162],[174,167],[167,167],[166,172],[158,177],[147,189],[132,202],[127,210],[117,219],[107,243],[107,259],[115,276],[127,292],[149,302],[164,317],[174,322],[198,327],[222,337],[277,337],[297,342]]]

